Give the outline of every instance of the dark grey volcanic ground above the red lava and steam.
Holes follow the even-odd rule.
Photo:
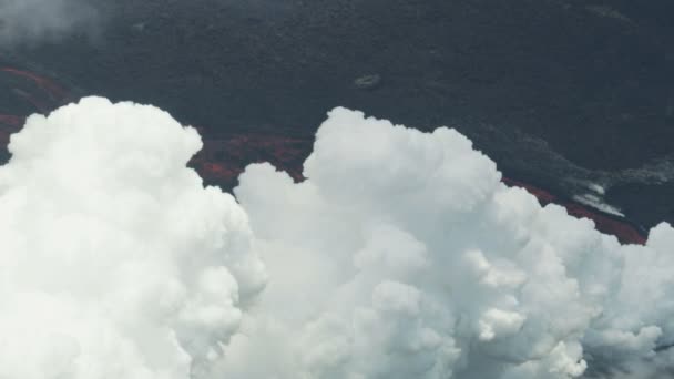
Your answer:
[[[310,140],[337,105],[455,126],[510,177],[645,227],[674,222],[672,1],[120,0],[101,12],[96,39],[12,59],[80,95],[156,104],[206,140]]]

